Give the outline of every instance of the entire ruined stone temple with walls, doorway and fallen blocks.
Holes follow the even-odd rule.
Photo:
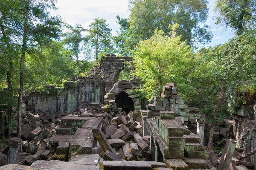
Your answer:
[[[225,146],[217,160],[204,147],[210,124],[198,108],[184,104],[177,84],[168,83],[142,110],[135,90],[140,85],[117,81],[124,60],[107,57],[89,77],[68,79],[64,89],[47,85],[50,93],[29,93],[21,139],[10,140],[0,165],[1,159],[16,163],[22,157],[23,169],[36,170],[256,170],[253,154],[242,157],[256,146],[256,122],[246,109],[215,127],[214,146]],[[0,118],[4,124],[4,111]],[[242,154],[236,145],[244,146]]]

